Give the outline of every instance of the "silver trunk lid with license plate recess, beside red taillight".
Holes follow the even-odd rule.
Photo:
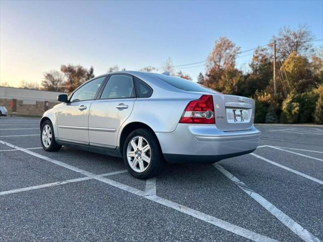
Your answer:
[[[251,130],[255,104],[247,97],[213,94],[216,126],[222,131]]]

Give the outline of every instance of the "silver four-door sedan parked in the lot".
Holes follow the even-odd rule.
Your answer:
[[[58,100],[41,118],[44,150],[64,145],[122,157],[137,178],[157,175],[166,162],[247,154],[260,139],[254,100],[167,74],[105,74]]]

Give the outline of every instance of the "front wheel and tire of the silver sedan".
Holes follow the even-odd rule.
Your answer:
[[[53,130],[54,129],[52,128],[52,124],[49,120],[46,120],[41,126],[40,143],[45,151],[58,151],[62,148],[61,145],[56,143]]]

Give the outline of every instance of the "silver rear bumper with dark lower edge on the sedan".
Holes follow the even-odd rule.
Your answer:
[[[179,124],[174,132],[155,133],[165,159],[178,162],[216,162],[254,151],[261,132],[223,132],[214,125]]]

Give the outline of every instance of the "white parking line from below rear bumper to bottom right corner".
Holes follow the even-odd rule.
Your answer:
[[[227,176],[235,185],[237,185],[241,190],[258,202],[262,207],[264,207],[268,212],[273,214],[277,219],[279,219],[285,226],[292,230],[296,235],[301,237],[304,241],[320,241],[313,234],[295,222],[292,218],[286,215],[283,211],[279,210],[275,205],[267,201],[265,198],[252,191],[247,187],[241,180],[223,168],[220,164],[213,164],[219,171],[221,171],[225,176]]]

